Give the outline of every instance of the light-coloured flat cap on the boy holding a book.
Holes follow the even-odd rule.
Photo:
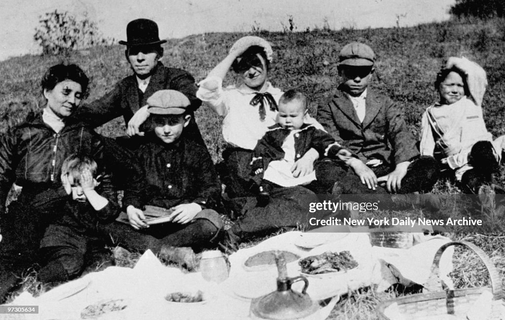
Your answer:
[[[183,114],[189,99],[177,90],[159,90],[147,99],[150,114]]]

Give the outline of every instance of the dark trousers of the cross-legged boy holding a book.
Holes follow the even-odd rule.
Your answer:
[[[187,224],[171,222],[153,224],[138,231],[129,224],[117,221],[99,225],[98,228],[100,236],[109,239],[114,246],[136,252],[150,249],[155,254],[162,246],[206,247],[219,232],[219,227],[210,220],[198,218]]]

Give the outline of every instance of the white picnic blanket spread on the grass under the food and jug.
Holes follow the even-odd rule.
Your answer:
[[[168,315],[180,320],[250,319],[250,299],[276,289],[277,268],[272,266],[261,271],[247,271],[243,262],[248,257],[273,249],[291,251],[300,257],[348,250],[358,261],[357,268],[307,276],[307,292],[312,299],[324,300],[336,296],[317,313],[307,317],[323,320],[328,317],[338,297],[348,291],[372,284],[378,284],[378,289],[382,290],[395,282],[405,285],[424,283],[436,250],[449,239],[431,237],[419,238],[418,241],[422,242],[403,250],[372,247],[366,233],[288,232],[230,255],[230,277],[220,285],[206,282],[199,272],[183,273],[178,268],[164,266],[152,252],[147,251],[134,268],[108,267],[37,298],[23,293],[10,304],[39,306],[39,314],[20,315],[16,319],[80,319],[81,311],[86,306],[113,299],[121,299],[126,308],[104,314],[98,319],[162,319]],[[442,270],[450,270],[450,259],[447,261],[442,262]],[[288,263],[287,269],[289,277],[300,275],[297,262]],[[302,286],[303,283],[298,282],[292,288],[301,291]],[[198,290],[204,292],[206,302],[170,303],[165,300],[165,296],[172,292]]]

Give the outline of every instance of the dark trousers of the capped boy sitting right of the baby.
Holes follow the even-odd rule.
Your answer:
[[[385,188],[376,190],[368,189],[362,184],[361,179],[355,174],[352,168],[341,161],[323,159],[315,165],[316,177],[322,189],[333,188],[338,182],[338,190],[343,194],[386,194]],[[394,170],[394,166],[381,164],[370,167],[377,177],[384,176]],[[399,194],[410,194],[414,192],[429,192],[438,180],[438,162],[430,156],[421,156],[412,161],[407,169],[407,174],[401,180]]]

